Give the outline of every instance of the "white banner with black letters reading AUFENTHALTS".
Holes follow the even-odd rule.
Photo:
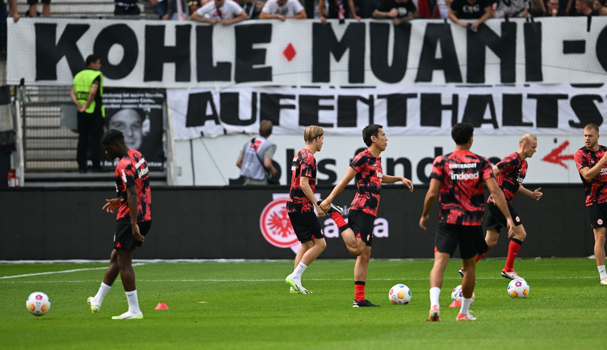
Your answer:
[[[303,135],[319,125],[330,135],[361,135],[381,124],[389,135],[450,135],[465,121],[485,134],[575,134],[607,116],[607,90],[595,86],[240,87],[168,90],[175,140],[257,133]]]

